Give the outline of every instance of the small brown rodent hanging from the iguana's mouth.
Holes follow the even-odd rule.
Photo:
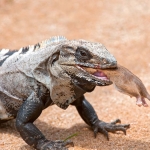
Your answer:
[[[148,107],[145,98],[150,100],[143,82],[127,68],[118,65],[117,69],[101,70],[114,83],[119,92],[136,97],[138,106]]]

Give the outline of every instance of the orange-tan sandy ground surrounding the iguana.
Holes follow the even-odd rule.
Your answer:
[[[18,49],[54,35],[104,44],[118,63],[139,76],[150,92],[150,1],[149,0],[0,0],[0,47]],[[86,98],[99,118],[120,118],[130,123],[127,135],[110,133],[110,141],[93,132],[74,107],[44,110],[35,124],[48,139],[65,139],[73,133],[75,147],[69,150],[149,150],[150,107],[135,105],[135,99],[113,86],[97,87]],[[148,102],[150,105],[150,102]],[[0,126],[0,150],[32,150],[12,124]]]

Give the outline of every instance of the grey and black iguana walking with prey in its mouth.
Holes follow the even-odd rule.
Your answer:
[[[83,67],[95,68],[90,74]],[[56,104],[76,107],[81,118],[107,139],[108,132],[123,131],[129,124],[99,120],[84,94],[112,82],[97,69],[116,68],[117,61],[100,43],[67,40],[58,36],[18,51],[0,51],[0,122],[16,118],[23,140],[37,150],[67,150],[71,141],[51,141],[33,124],[43,109]]]

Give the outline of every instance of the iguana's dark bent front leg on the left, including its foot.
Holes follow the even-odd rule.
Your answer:
[[[16,127],[23,140],[37,150],[67,150],[66,146],[73,145],[70,141],[49,141],[33,124],[44,108],[43,102],[35,93],[23,103],[16,118]]]

